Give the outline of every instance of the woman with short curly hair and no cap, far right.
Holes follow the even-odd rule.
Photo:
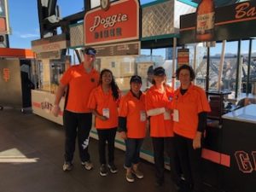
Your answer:
[[[177,69],[176,75],[181,85],[172,100],[174,144],[186,186],[193,192],[201,192],[202,135],[211,108],[205,91],[192,84],[195,79],[192,67],[183,65]]]

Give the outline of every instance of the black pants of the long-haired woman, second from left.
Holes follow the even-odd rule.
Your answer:
[[[99,137],[99,156],[100,163],[107,164],[106,160],[106,143],[108,142],[108,164],[113,164],[114,159],[114,138],[116,135],[117,128],[113,129],[97,129]]]

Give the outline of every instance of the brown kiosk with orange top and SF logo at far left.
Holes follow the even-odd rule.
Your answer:
[[[31,90],[36,85],[35,54],[30,49],[0,48],[0,106],[31,107]]]

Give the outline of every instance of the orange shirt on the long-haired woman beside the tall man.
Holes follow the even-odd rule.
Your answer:
[[[108,108],[109,111],[108,120],[101,120],[96,117],[96,129],[109,129],[118,126],[118,106],[119,100],[115,101],[113,99],[112,90],[109,90],[108,93],[104,93],[101,85],[92,90],[88,108],[96,109],[100,114],[103,114],[103,108]]]

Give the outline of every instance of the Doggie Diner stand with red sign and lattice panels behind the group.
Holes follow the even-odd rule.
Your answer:
[[[124,94],[130,90],[130,79],[135,74],[142,76],[145,90],[148,87],[148,69],[154,63],[138,62],[141,49],[176,46],[179,15],[193,11],[194,6],[176,0],[148,3],[143,7],[137,0],[115,1],[106,7],[88,10],[84,15],[84,23],[70,26],[71,48],[95,48],[96,69],[110,69]],[[82,46],[79,39],[84,39]],[[95,128],[92,128],[91,137],[97,138]],[[125,143],[118,134],[115,146],[125,149]],[[154,162],[149,131],[143,142],[141,157]]]

